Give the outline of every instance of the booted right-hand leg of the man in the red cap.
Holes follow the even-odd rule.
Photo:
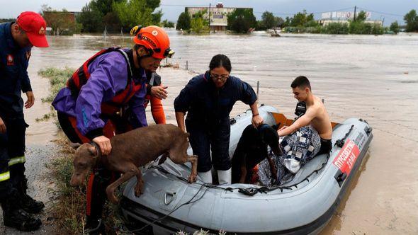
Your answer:
[[[28,179],[25,175],[25,162],[26,162],[26,146],[25,146],[25,134],[26,124],[23,118],[10,120],[7,127],[7,135],[9,138],[8,152],[9,152],[9,170],[11,177],[11,184],[13,188],[18,190],[20,197],[20,203],[23,210],[29,213],[39,213],[43,210],[45,205],[43,202],[34,200],[28,195]]]

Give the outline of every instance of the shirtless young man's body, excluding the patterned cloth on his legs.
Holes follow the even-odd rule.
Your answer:
[[[295,99],[299,102],[305,101],[306,113],[289,127],[284,126],[278,130],[278,136],[286,136],[299,130],[300,127],[311,125],[321,137],[321,147],[317,154],[329,153],[332,148],[332,126],[324,104],[320,98],[312,94],[310,82],[305,76],[298,76],[290,86],[292,87]]]

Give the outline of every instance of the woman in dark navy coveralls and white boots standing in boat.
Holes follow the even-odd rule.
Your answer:
[[[209,71],[191,79],[174,101],[177,124],[190,133],[193,154],[198,156],[198,175],[205,183],[212,183],[213,167],[218,171],[219,183],[231,183],[230,112],[237,101],[249,105],[252,124],[263,123],[256,106],[253,88],[235,76],[230,76],[231,62],[225,55],[215,55]],[[212,150],[212,161],[210,159]]]

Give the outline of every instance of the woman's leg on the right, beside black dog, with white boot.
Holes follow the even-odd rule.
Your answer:
[[[230,159],[230,134],[229,120],[222,122],[213,128],[210,135],[212,147],[213,167],[218,171],[219,184],[231,184],[232,171]]]

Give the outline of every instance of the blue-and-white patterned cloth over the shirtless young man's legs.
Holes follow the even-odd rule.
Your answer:
[[[263,185],[281,185],[292,179],[300,166],[320,151],[321,138],[318,132],[310,126],[301,127],[297,132],[284,137],[281,142],[283,155],[276,156],[269,149],[269,156],[277,168],[277,176],[271,176],[269,161],[264,159],[259,164],[259,180]]]

